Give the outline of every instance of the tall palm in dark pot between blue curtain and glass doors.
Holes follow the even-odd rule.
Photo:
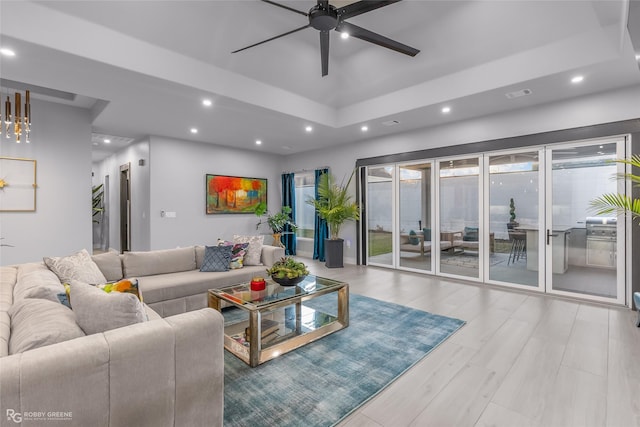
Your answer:
[[[318,197],[306,201],[315,207],[318,216],[327,221],[329,226],[330,238],[324,241],[325,265],[329,268],[343,267],[344,240],[340,238],[342,224],[360,219],[358,204],[352,201],[348,192],[354,173],[355,171],[351,173],[346,184],[337,184],[329,173],[320,175]]]

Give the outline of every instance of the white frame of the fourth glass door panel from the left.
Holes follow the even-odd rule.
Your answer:
[[[538,153],[538,229],[544,230],[545,229],[544,212],[542,212],[540,208],[541,206],[545,206],[545,176],[546,176],[545,160],[546,160],[546,157],[544,154],[545,153],[544,147],[532,146],[532,147],[523,147],[523,148],[517,148],[517,149],[510,149],[510,150],[492,151],[489,153],[484,153],[483,155],[484,171],[485,171],[485,173],[483,174],[484,206],[486,206],[486,211],[484,212],[485,213],[484,232],[482,234],[484,235],[485,242],[486,242],[484,245],[485,254],[490,253],[489,252],[490,251],[490,247],[489,247],[490,233],[491,233],[491,224],[490,224],[491,212],[489,212],[489,210],[491,209],[491,202],[490,202],[491,173],[490,173],[490,167],[489,167],[490,159],[491,157],[495,157],[495,156],[531,153],[534,151]],[[491,280],[490,279],[490,263],[491,263],[490,256],[485,256],[485,259],[484,259],[484,271],[485,271],[484,283],[491,284],[491,285],[506,286],[510,288],[522,289],[527,291],[544,292],[545,278],[546,278],[545,253],[540,249],[544,247],[544,243],[545,243],[544,233],[538,232],[538,286],[528,286],[528,285],[522,285],[519,283],[504,282],[500,280]],[[527,253],[527,255],[529,254]]]

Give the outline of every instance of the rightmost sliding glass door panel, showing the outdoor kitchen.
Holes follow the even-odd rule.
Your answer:
[[[571,144],[547,151],[547,290],[624,303],[624,225],[596,216],[590,201],[623,192],[613,162],[624,140]],[[612,179],[613,178],[613,179]]]

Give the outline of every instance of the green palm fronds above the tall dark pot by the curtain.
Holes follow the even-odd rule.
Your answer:
[[[354,173],[355,171],[351,173],[346,184],[337,184],[331,174],[320,175],[318,197],[306,200],[307,204],[316,208],[320,218],[327,221],[331,240],[339,238],[340,228],[345,221],[360,219],[358,204],[351,200],[348,192]]]

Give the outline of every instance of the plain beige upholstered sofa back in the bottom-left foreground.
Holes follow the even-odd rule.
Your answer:
[[[222,316],[202,309],[7,356],[0,411],[65,413],[65,426],[222,426],[222,352]]]

